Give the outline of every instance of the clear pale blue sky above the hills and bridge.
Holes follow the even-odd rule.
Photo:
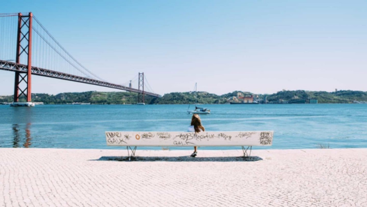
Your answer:
[[[98,76],[154,92],[367,90],[367,1],[1,1]],[[14,73],[0,70],[0,95]],[[137,87],[137,86],[136,86]],[[33,91],[113,91],[33,76]]]

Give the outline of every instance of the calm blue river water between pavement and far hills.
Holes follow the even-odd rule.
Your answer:
[[[367,104],[203,106],[212,111],[201,116],[206,130],[274,130],[273,146],[258,149],[318,148],[319,144],[367,148]],[[0,106],[0,147],[112,149],[116,147],[106,146],[107,130],[186,131],[191,117],[187,107]]]

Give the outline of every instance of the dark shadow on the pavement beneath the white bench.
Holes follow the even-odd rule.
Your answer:
[[[179,156],[179,157],[100,157],[100,159],[91,159],[90,161],[260,161],[261,157],[190,157],[190,156]]]

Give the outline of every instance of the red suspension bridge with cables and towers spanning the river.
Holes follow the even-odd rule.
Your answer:
[[[98,77],[66,51],[32,12],[0,14],[0,70],[15,72],[15,105],[21,98],[32,101],[32,75],[137,92],[138,103],[144,103],[145,95],[161,97],[143,72],[125,84]],[[133,88],[136,79],[138,87]]]

